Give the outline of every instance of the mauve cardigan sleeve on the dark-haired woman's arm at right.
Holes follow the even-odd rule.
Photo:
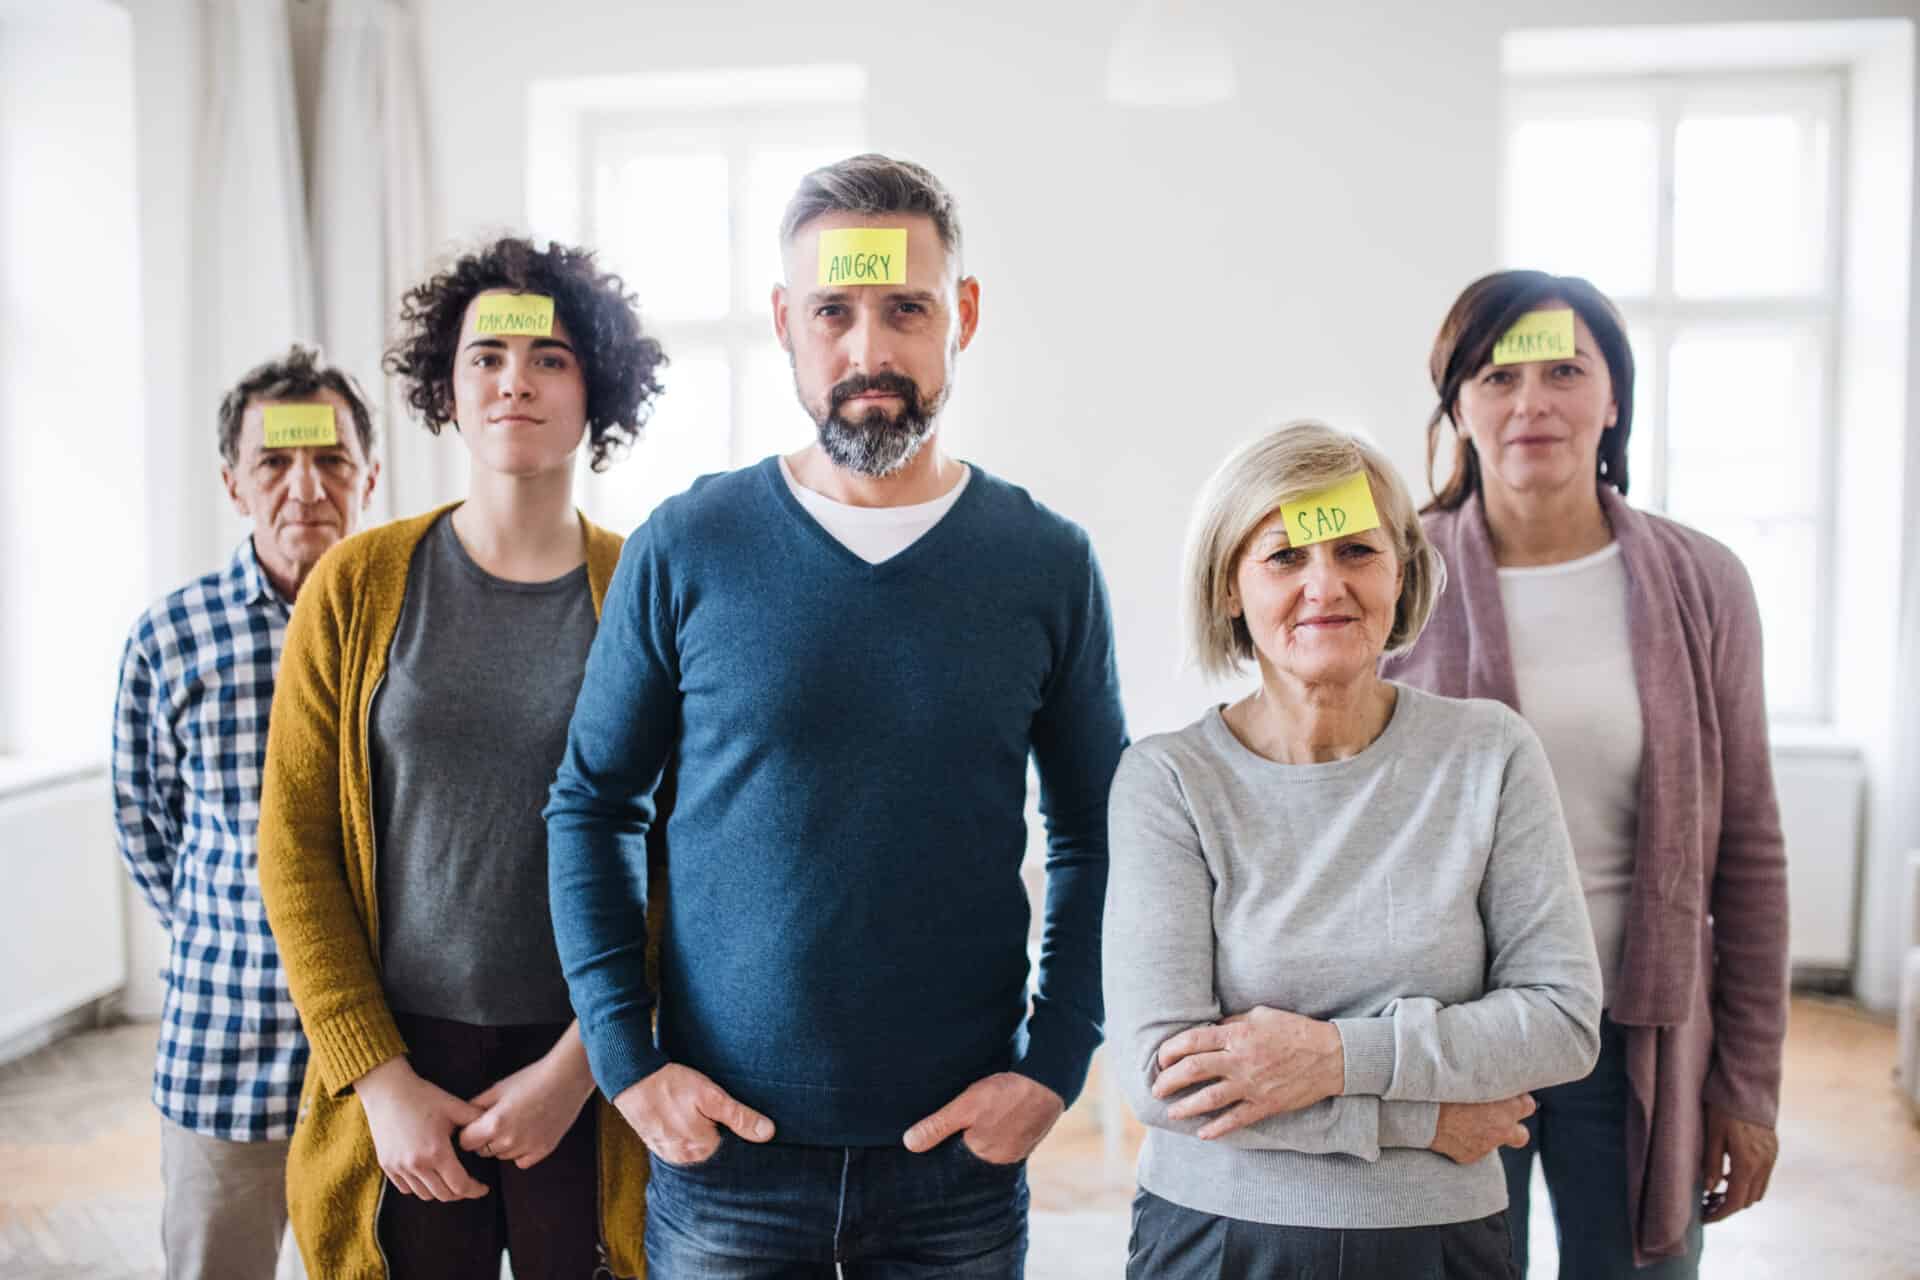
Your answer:
[[[1713,628],[1720,720],[1720,846],[1713,915],[1713,1061],[1703,1098],[1772,1126],[1788,1027],[1788,860],[1774,798],[1761,664],[1761,610],[1747,570],[1726,558]]]

